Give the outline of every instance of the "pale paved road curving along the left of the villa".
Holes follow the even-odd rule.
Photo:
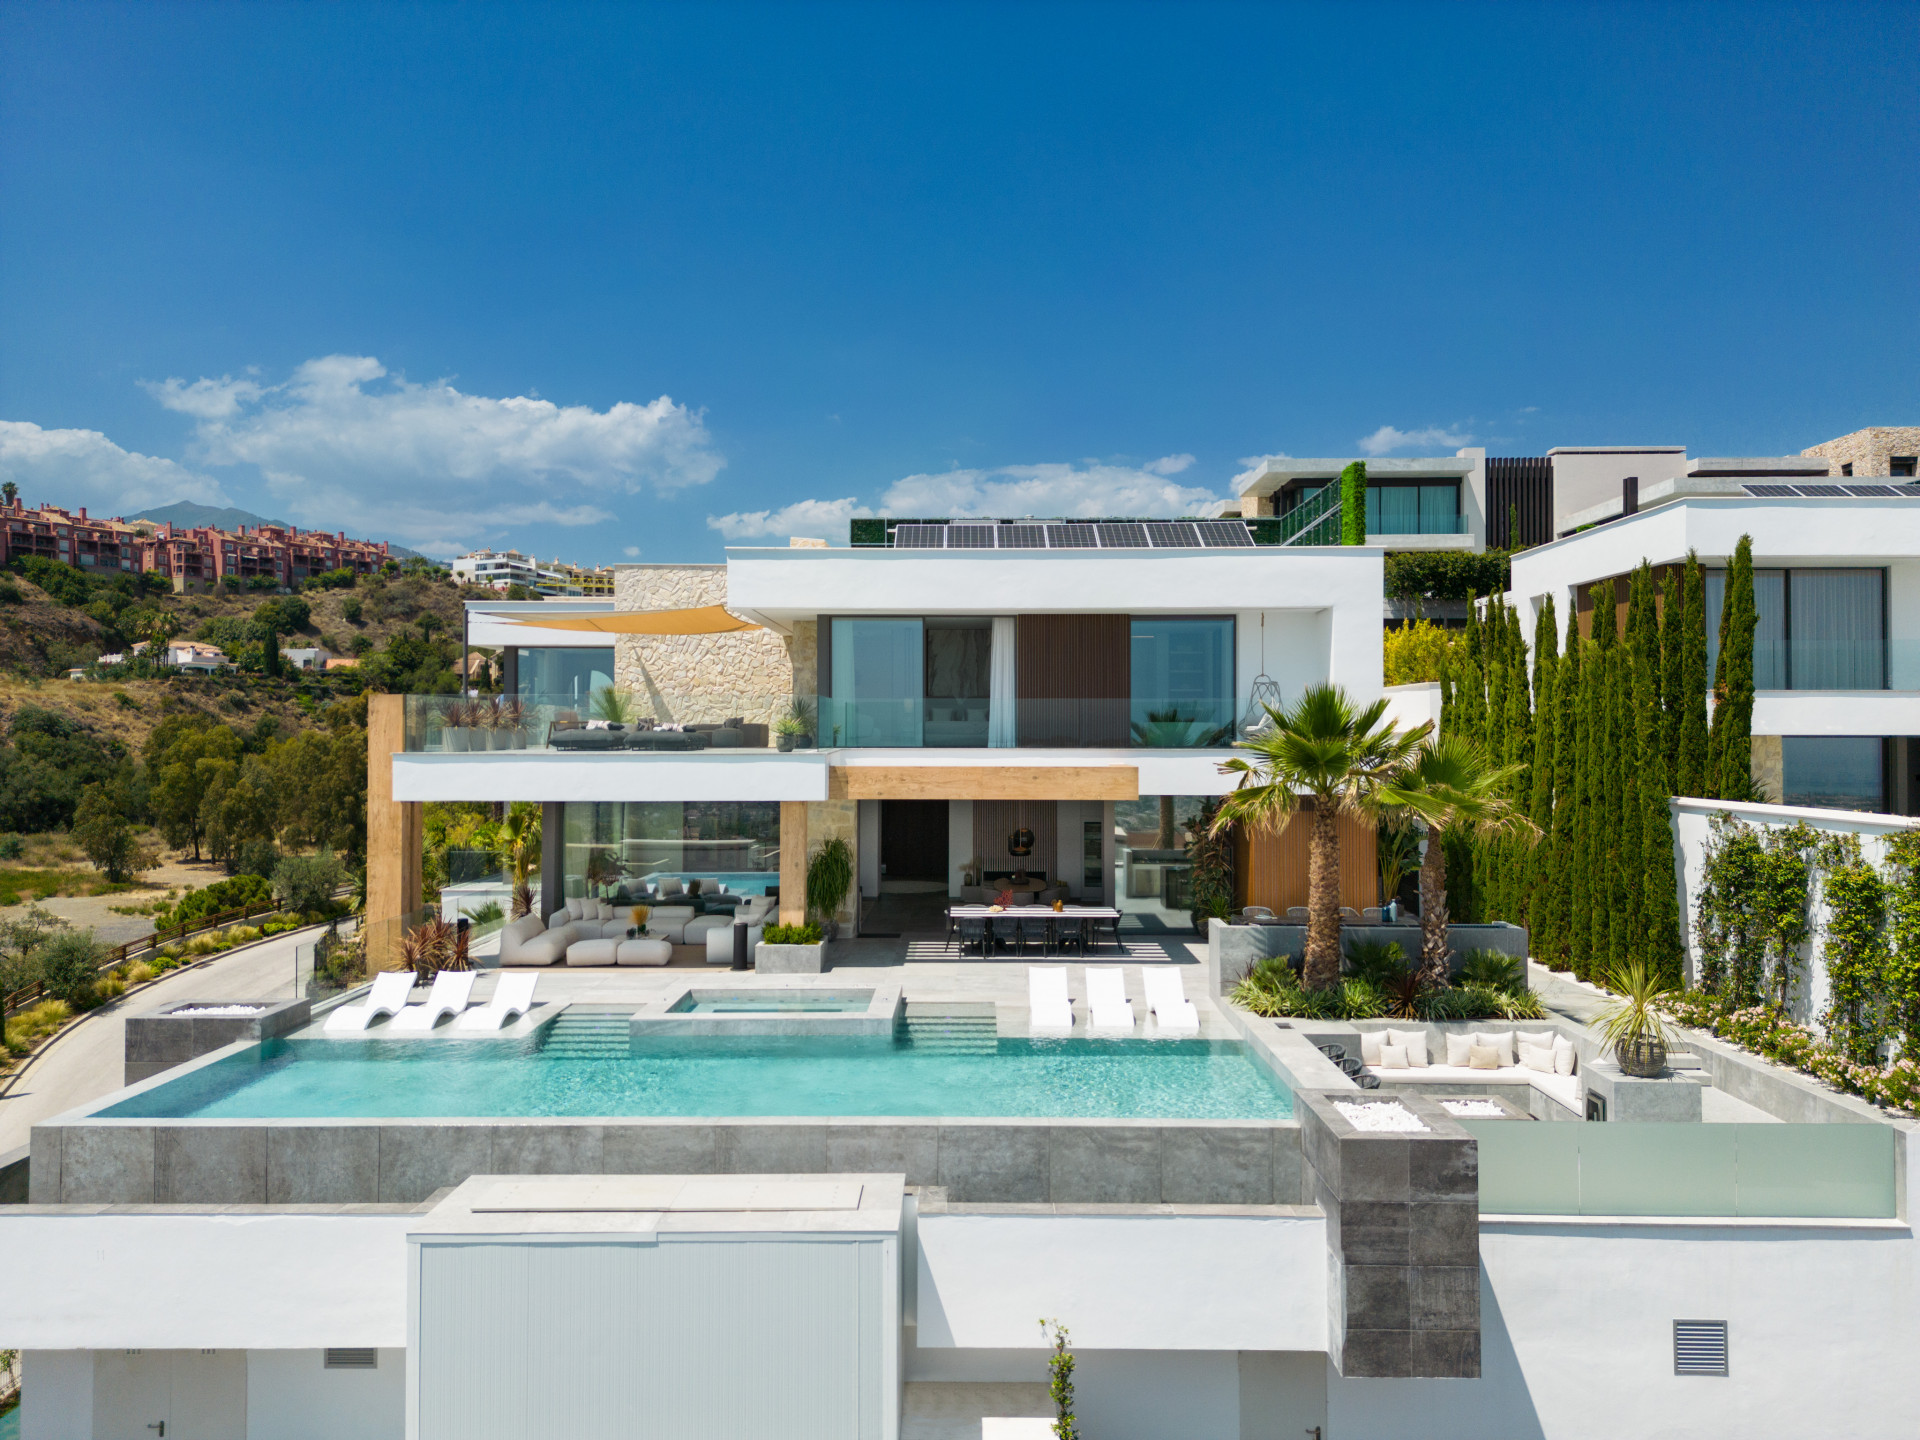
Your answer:
[[[0,1154],[27,1144],[38,1121],[121,1089],[127,1016],[146,1016],[182,1000],[290,1000],[294,948],[311,937],[311,929],[275,935],[100,1006],[54,1041],[0,1098]]]

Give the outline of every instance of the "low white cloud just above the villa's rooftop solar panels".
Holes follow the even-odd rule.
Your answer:
[[[1167,455],[1148,465],[1002,465],[995,468],[910,474],[895,480],[877,505],[843,499],[803,499],[778,511],[708,515],[707,524],[728,540],[756,536],[826,536],[839,540],[858,515],[1219,515],[1227,499],[1212,490],[1175,484],[1192,455]]]

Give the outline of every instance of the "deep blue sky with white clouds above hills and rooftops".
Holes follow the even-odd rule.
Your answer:
[[[1920,424],[1920,6],[0,10],[0,472],[432,553]]]

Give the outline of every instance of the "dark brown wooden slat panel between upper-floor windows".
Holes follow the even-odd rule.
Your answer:
[[[1125,614],[1023,614],[1014,649],[1021,745],[1129,745]]]

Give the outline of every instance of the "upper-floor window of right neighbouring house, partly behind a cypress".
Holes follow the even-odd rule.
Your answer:
[[[1707,678],[1720,655],[1726,572],[1707,572]],[[1755,689],[1885,689],[1885,572],[1755,570]]]

